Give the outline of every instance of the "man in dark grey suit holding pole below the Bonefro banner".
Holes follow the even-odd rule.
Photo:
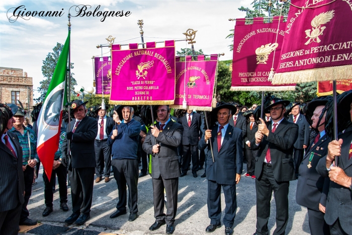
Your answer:
[[[143,150],[152,155],[151,177],[153,183],[155,222],[150,230],[158,229],[166,223],[166,233],[174,231],[173,222],[177,212],[179,191],[180,165],[178,161],[178,146],[182,141],[183,127],[169,118],[168,105],[155,105],[159,122],[150,126],[143,143]],[[164,214],[164,188],[167,198],[167,210]]]

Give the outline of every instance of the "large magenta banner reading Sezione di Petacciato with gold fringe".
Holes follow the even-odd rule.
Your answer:
[[[350,79],[352,2],[292,0],[273,83]]]

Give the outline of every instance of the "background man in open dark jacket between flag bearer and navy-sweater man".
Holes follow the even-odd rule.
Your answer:
[[[96,110],[96,113],[98,114],[98,135],[94,142],[97,164],[96,183],[99,183],[102,180],[103,173],[105,176],[105,183],[110,181],[109,177],[111,168],[111,146],[108,145],[107,141],[114,127],[114,120],[113,118],[110,118],[110,116],[106,115],[106,108],[107,107],[103,109],[102,106],[100,106]]]

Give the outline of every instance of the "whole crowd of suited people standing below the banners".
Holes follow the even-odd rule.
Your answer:
[[[330,96],[292,103],[268,95],[263,106],[218,102],[211,112],[178,109],[173,115],[168,105],[151,109],[118,105],[108,113],[108,107],[92,110],[86,108],[87,102],[74,100],[71,113],[63,118],[50,180],[43,173],[46,208],[42,215],[53,211],[56,177],[60,209],[69,210],[68,174],[72,214],[65,222],[84,224],[90,219],[94,181],[108,183],[112,168],[118,203],[110,217],[126,214],[128,199],[128,220],[138,218],[138,178],[150,174],[155,222],[149,229],[166,224],[165,232],[172,234],[179,177],[188,171],[198,177],[197,172],[205,168],[201,177],[208,182],[210,218],[206,232],[221,225],[222,188],[225,234],[233,234],[236,184],[244,175],[255,180],[254,234],[269,234],[273,192],[274,234],[285,234],[293,180],[298,180],[296,201],[307,208],[311,234],[352,234],[352,90],[339,95],[337,101],[338,139],[332,140]],[[29,124],[22,106],[0,104],[0,114],[0,234],[17,234],[19,225],[37,223],[29,218],[27,204],[40,164],[38,133],[36,122],[33,127]]]

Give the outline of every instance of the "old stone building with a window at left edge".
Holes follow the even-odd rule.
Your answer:
[[[33,78],[19,68],[0,67],[0,103],[20,100],[26,110],[33,106]]]

